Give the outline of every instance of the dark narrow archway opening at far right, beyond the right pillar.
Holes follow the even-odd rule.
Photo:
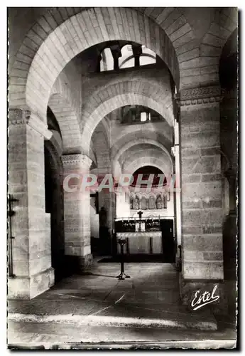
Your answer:
[[[223,256],[224,279],[229,280],[229,305],[234,310],[237,249],[237,176],[238,176],[238,28],[222,48],[219,80],[223,100],[220,103],[220,147],[222,150]]]

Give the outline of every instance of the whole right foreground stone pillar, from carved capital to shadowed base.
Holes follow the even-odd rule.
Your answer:
[[[224,302],[220,89],[212,86],[181,90],[179,99],[183,226],[181,296],[184,303],[190,303],[196,290],[212,291],[217,284],[220,306]]]

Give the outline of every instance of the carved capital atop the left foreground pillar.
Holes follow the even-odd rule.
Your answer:
[[[48,130],[48,125],[30,110],[9,109],[9,126],[11,125],[28,125],[46,140],[50,140],[52,136],[52,132]]]

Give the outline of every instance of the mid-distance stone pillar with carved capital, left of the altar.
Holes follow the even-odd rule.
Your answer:
[[[64,182],[75,186],[73,192],[64,187],[65,256],[71,271],[79,271],[92,263],[90,246],[90,192],[81,189],[83,174],[89,173],[92,160],[86,155],[63,155]],[[70,179],[68,176],[70,174]],[[77,174],[77,178],[74,175]],[[73,178],[72,178],[73,177]],[[79,178],[80,177],[80,178]],[[75,180],[74,180],[75,179]]]

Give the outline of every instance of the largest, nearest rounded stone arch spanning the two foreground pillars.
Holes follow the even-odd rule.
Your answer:
[[[10,74],[11,107],[27,106],[44,118],[51,89],[65,65],[97,43],[118,39],[141,43],[154,51],[167,64],[178,86],[173,44],[163,28],[146,14],[127,8],[91,8],[73,16],[65,11],[62,17],[60,11],[47,11],[33,26],[35,31],[31,28],[26,35]],[[16,85],[20,70],[21,85]]]

